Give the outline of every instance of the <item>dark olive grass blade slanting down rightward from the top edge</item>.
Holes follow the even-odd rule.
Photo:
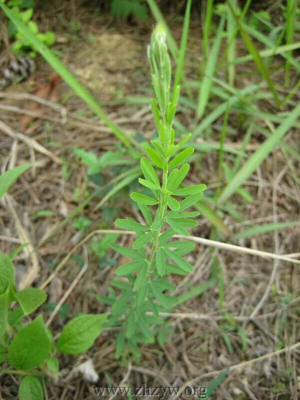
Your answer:
[[[251,40],[250,36],[248,35],[248,33],[242,27],[241,22],[239,21],[239,19],[235,15],[235,12],[234,12],[230,2],[228,2],[228,6],[230,7],[232,15],[233,15],[233,17],[234,17],[234,19],[236,21],[236,24],[237,24],[237,26],[239,28],[241,37],[242,37],[242,39],[243,39],[243,41],[244,41],[244,43],[245,43],[250,55],[253,57],[253,60],[254,60],[254,62],[256,64],[256,66],[257,66],[257,69],[259,70],[261,76],[266,80],[266,82],[268,84],[268,87],[269,87],[270,91],[273,94],[273,98],[274,98],[275,103],[278,106],[280,106],[280,100],[279,100],[278,94],[277,94],[277,92],[275,90],[273,81],[270,78],[270,75],[269,75],[268,71],[266,70],[266,68],[265,68],[265,66],[264,66],[264,64],[262,62],[262,59],[261,59],[261,57],[259,55],[259,52],[257,51],[257,49],[256,49],[253,41]]]

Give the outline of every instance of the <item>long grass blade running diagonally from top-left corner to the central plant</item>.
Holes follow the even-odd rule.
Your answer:
[[[111,129],[113,134],[129,149],[132,144],[140,151],[141,146],[130,136],[126,135],[117,125],[110,121],[107,114],[102,110],[92,95],[78,82],[74,75],[63,65],[63,63],[47,48],[28,28],[27,26],[11,11],[5,4],[0,2],[7,17],[15,24],[15,26],[24,34],[34,48],[42,55],[49,65],[62,77],[62,79],[81,97],[90,109]]]

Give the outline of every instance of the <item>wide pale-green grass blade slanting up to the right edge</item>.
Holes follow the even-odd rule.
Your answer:
[[[260,145],[260,147],[247,159],[243,166],[238,170],[233,179],[222,190],[218,202],[221,204],[231,196],[250,176],[255,168],[272,151],[273,147],[279,143],[294,121],[300,115],[300,104],[298,104],[274,130],[274,132]]]

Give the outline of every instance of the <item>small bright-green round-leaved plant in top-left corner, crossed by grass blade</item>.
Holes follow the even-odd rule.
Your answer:
[[[31,20],[33,15],[34,1],[24,0],[11,0],[7,2],[7,7],[10,8],[27,28],[43,43],[43,45],[51,46],[55,41],[55,34],[51,31],[41,33],[39,32],[36,22]],[[31,58],[36,55],[36,49],[28,40],[24,33],[17,28],[17,26],[10,20],[7,24],[7,33],[10,38],[14,40],[11,49],[14,54],[28,54]]]

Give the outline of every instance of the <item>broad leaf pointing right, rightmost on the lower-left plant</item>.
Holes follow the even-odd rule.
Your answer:
[[[92,346],[103,329],[106,314],[82,314],[71,319],[62,329],[56,343],[63,354],[79,354]]]

